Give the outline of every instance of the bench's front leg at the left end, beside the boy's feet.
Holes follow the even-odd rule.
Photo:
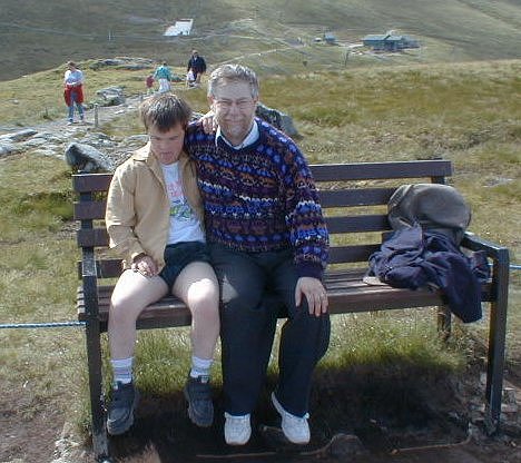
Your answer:
[[[96,461],[102,462],[108,461],[109,453],[101,380],[101,339],[99,321],[97,318],[91,318],[86,324],[86,342],[92,420],[92,447]]]

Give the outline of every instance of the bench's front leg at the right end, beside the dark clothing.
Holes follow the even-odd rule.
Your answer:
[[[502,258],[501,258],[502,257]],[[500,256],[494,265],[497,299],[490,305],[489,352],[486,364],[485,425],[489,434],[499,431],[503,394],[504,346],[507,337],[507,308],[509,299],[509,257]]]

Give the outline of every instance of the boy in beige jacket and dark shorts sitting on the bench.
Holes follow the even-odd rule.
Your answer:
[[[110,247],[124,272],[110,299],[108,339],[114,372],[107,431],[125,433],[134,423],[136,319],[166,296],[179,297],[191,313],[191,368],[185,385],[188,416],[198,426],[214,420],[209,383],[219,335],[219,289],[209,264],[196,169],[183,149],[191,109],[171,93],[139,107],[149,142],[114,174],[107,197]]]

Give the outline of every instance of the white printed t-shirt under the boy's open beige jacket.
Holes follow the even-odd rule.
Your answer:
[[[170,201],[170,230],[167,245],[181,242],[205,242],[200,220],[183,193],[179,162],[161,164],[161,169]]]

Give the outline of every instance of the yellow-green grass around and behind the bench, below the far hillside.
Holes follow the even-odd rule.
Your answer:
[[[299,146],[311,162],[451,159],[455,166],[451,181],[473,209],[471,229],[508,246],[512,260],[519,263],[520,71],[521,62],[515,60],[306,71],[264,77],[262,100],[294,118],[302,135]],[[0,125],[41,121],[46,105],[48,114],[61,111],[61,101],[53,101],[60,73],[33,77],[35,89],[41,92],[37,100],[23,92],[23,81],[0,82]],[[90,88],[116,79],[129,93],[144,87],[139,71],[104,69],[88,76]],[[18,106],[9,106],[8,91],[17,95]],[[183,95],[196,110],[206,110],[204,91]],[[142,132],[135,114],[100,130],[121,138]],[[61,154],[57,155],[20,154],[0,160],[1,323],[76,318],[79,256],[70,223],[70,173]],[[509,366],[519,366],[521,354],[520,288],[521,276],[513,273]],[[430,311],[333,318],[332,345],[321,366],[324,375],[342,368],[355,373],[365,368],[374,372],[373,378],[393,372],[404,378],[410,374],[419,381],[426,372],[461,374],[481,355],[479,346],[486,338],[486,319],[456,324],[453,339],[445,345]],[[27,403],[28,417],[52,404],[75,411],[77,422],[87,426],[81,329],[3,329],[0,345],[0,376],[6,387],[24,385],[20,397]],[[178,391],[188,364],[187,329],[139,334],[136,373],[146,393],[161,396]],[[218,362],[214,370],[218,384]]]

